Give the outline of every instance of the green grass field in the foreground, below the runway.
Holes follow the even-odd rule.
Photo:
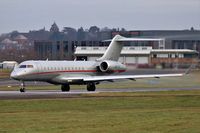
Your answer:
[[[200,91],[0,101],[0,133],[197,133]]]

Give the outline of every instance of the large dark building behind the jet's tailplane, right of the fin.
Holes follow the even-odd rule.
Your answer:
[[[112,37],[116,34],[125,37],[151,37],[162,38],[163,43],[146,42],[145,46],[152,46],[153,49],[191,49],[200,52],[200,31],[199,30],[142,30],[112,32]],[[130,46],[144,46],[138,42],[128,43]],[[199,56],[200,58],[200,56]]]

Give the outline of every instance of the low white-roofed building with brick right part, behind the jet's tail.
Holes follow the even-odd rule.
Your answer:
[[[107,47],[77,47],[77,60],[95,60]],[[137,67],[188,67],[198,62],[198,52],[189,49],[152,49],[152,47],[123,47],[119,61]]]

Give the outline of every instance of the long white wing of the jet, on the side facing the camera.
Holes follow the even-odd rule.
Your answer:
[[[62,76],[59,80],[64,82],[82,81],[82,82],[101,82],[101,81],[113,81],[120,79],[144,79],[144,78],[161,78],[161,77],[180,77],[184,74],[151,74],[151,75],[112,75],[112,76],[82,76],[82,77],[65,77]]]

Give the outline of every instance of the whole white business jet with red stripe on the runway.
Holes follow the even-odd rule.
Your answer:
[[[15,66],[11,78],[21,81],[20,92],[25,92],[25,81],[44,81],[61,85],[63,92],[70,91],[70,85],[87,85],[88,91],[95,91],[96,84],[121,79],[142,79],[183,76],[180,74],[113,75],[126,71],[118,62],[124,41],[153,41],[155,39],[125,38],[116,35],[104,55],[95,61],[24,61]]]

